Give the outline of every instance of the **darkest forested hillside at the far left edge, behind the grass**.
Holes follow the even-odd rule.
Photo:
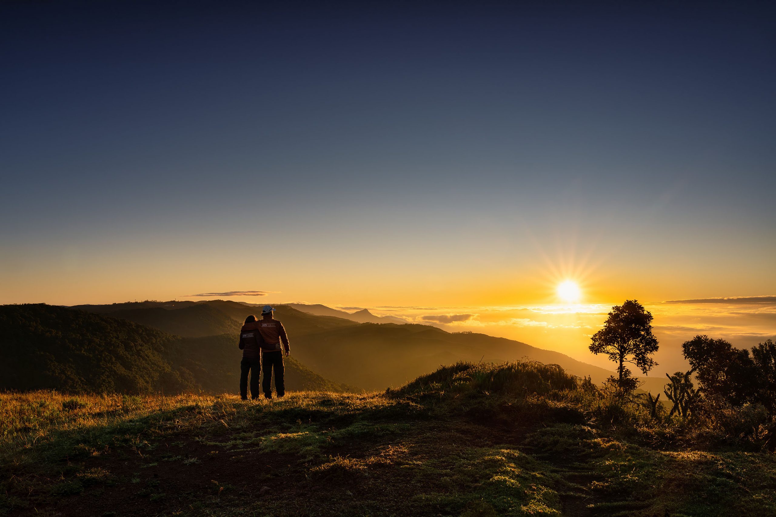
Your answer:
[[[0,306],[0,388],[142,393],[193,388],[165,360],[172,336],[51,305]]]

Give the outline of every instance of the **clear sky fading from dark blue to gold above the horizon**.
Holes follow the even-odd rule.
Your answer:
[[[0,303],[776,294],[773,2],[365,3],[3,2]]]

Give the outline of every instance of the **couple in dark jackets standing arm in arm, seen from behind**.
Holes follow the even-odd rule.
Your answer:
[[[272,317],[274,310],[272,305],[265,305],[262,308],[261,320],[257,321],[255,315],[250,315],[240,329],[239,346],[243,351],[240,362],[240,396],[243,400],[248,400],[248,372],[251,374],[251,398],[258,398],[260,370],[264,372],[262,389],[265,398],[272,398],[272,370],[275,371],[275,391],[279,397],[286,394],[283,384],[283,353],[288,357],[291,349],[286,329]]]

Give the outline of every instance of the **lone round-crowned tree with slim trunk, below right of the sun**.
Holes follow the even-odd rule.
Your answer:
[[[631,372],[625,363],[636,364],[644,374],[657,364],[650,357],[658,348],[652,315],[636,300],[611,308],[604,328],[593,335],[592,341],[592,353],[605,353],[618,363],[617,382],[623,389],[632,388]]]

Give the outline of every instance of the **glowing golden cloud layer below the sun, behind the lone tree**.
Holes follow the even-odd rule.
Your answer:
[[[644,304],[653,316],[654,333],[660,341],[653,371],[673,373],[686,367],[681,343],[698,334],[727,339],[733,346],[750,348],[766,339],[776,339],[776,297],[757,302]],[[774,298],[772,301],[766,298]],[[728,298],[730,299],[730,298]],[[546,350],[566,353],[577,360],[611,369],[603,356],[587,349],[591,336],[603,326],[611,305],[535,305],[514,307],[379,307],[376,315],[393,315],[407,322],[438,326],[451,332],[473,330],[515,339]]]

